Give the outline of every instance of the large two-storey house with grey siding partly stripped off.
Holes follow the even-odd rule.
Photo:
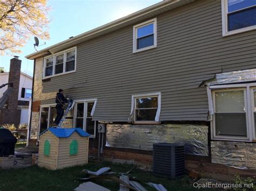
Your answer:
[[[105,157],[151,163],[152,143],[181,142],[186,159],[254,169],[255,29],[255,1],[163,1],[32,53],[30,138],[62,88],[91,153],[101,122]]]

